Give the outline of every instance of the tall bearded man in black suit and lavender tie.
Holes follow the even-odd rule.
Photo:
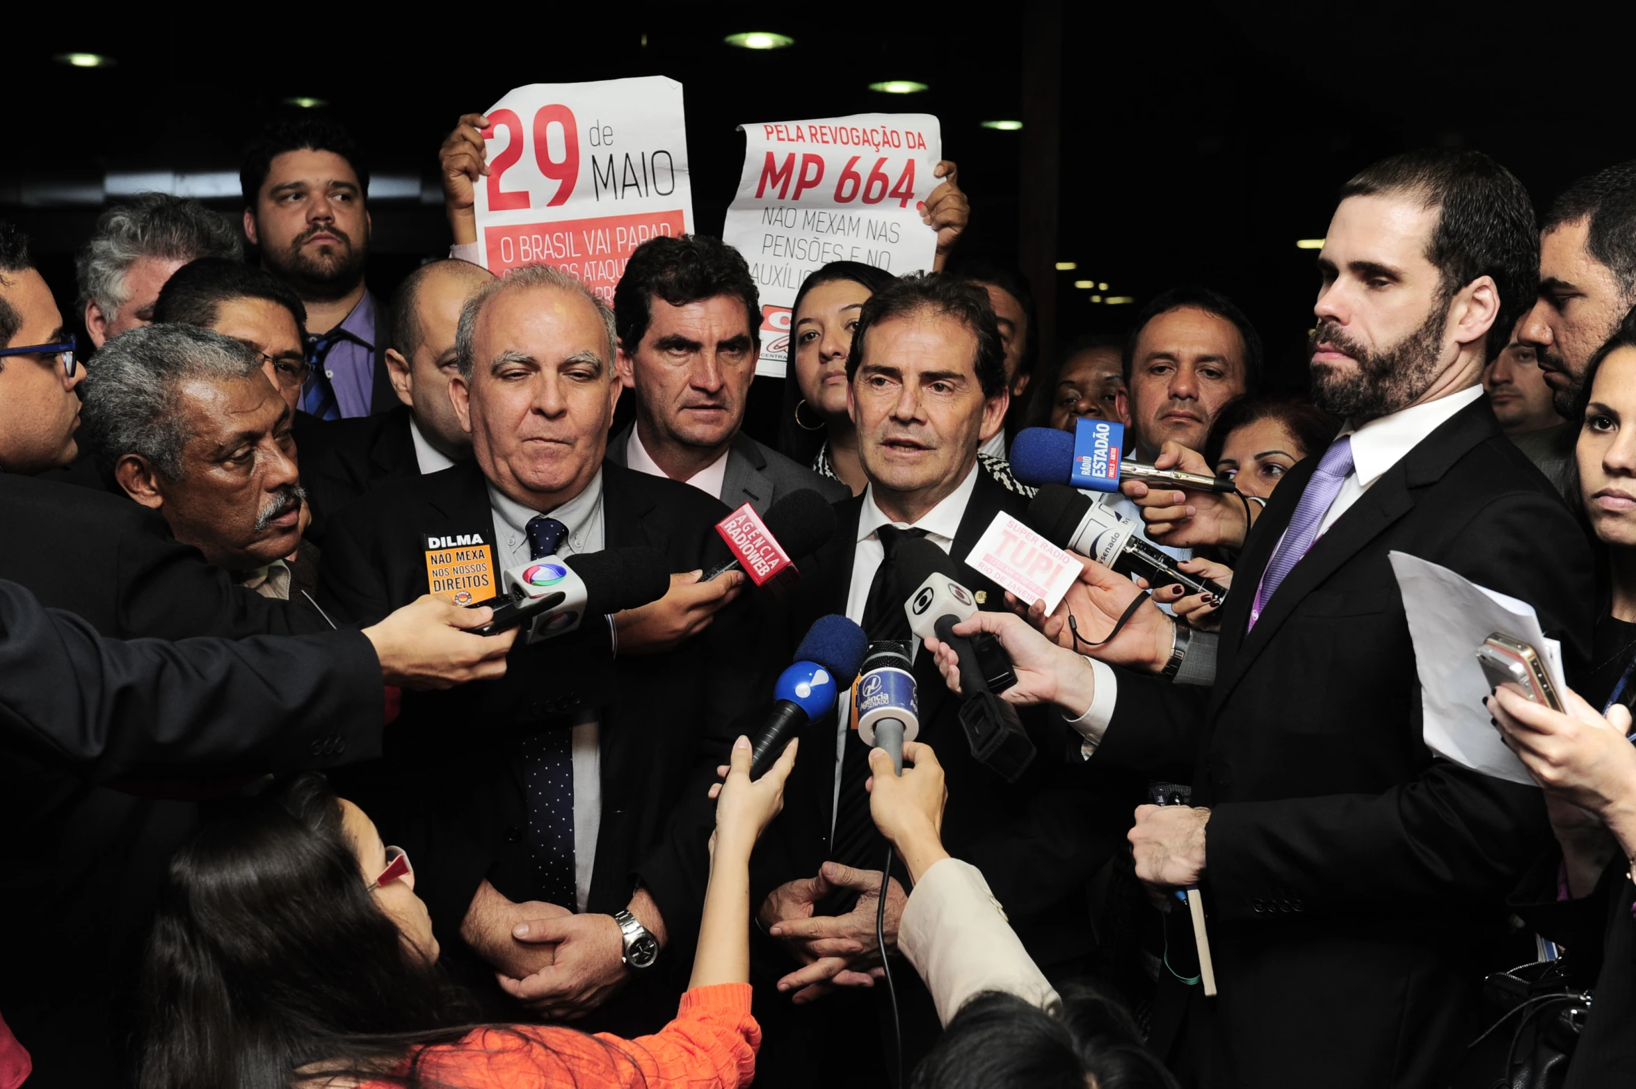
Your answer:
[[[1158,891],[1202,881],[1212,912],[1219,997],[1162,976],[1155,1014],[1189,1084],[1443,1086],[1482,1028],[1505,896],[1551,832],[1536,790],[1422,741],[1389,554],[1521,598],[1569,662],[1587,651],[1584,535],[1479,386],[1536,263],[1528,195],[1490,159],[1369,167],[1342,190],[1319,255],[1314,397],[1348,420],[1340,438],[1289,474],[1247,543],[1242,515],[1237,541],[1222,528],[1227,502],[1140,495],[1160,540],[1245,548],[1219,646],[1194,634],[1176,648],[1216,654],[1214,687],[1098,664],[1076,723],[1086,767],[1194,765],[1191,806],[1144,806],[1130,832],[1137,876]],[[1114,579],[1099,592],[1130,594]],[[1171,621],[1144,616],[1126,636],[1176,646],[1142,631]],[[1180,925],[1173,952],[1191,945]]]

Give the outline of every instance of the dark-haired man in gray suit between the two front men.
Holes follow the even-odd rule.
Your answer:
[[[757,513],[802,487],[847,497],[844,484],[739,430],[761,353],[761,298],[738,250],[689,234],[643,242],[614,293],[614,317],[636,420],[609,441],[609,461]]]

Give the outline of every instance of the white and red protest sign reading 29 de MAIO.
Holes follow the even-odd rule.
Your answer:
[[[489,271],[555,265],[612,304],[631,250],[694,229],[676,80],[530,83],[488,116],[476,213]]]

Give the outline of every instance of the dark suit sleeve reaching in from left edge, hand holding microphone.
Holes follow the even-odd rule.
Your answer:
[[[370,759],[381,713],[380,659],[360,633],[123,643],[0,582],[5,744],[90,778]]]

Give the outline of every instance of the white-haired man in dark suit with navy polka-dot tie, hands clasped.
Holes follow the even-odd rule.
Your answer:
[[[560,554],[649,544],[672,571],[726,558],[718,500],[604,463],[620,384],[612,314],[584,285],[543,267],[492,281],[466,302],[458,340],[450,392],[474,458],[388,482],[334,518],[326,608],[366,621],[425,594],[429,536],[474,549],[478,585],[455,592],[478,600],[546,530],[563,535]],[[348,788],[427,858],[420,893],[448,925],[448,955],[486,961],[476,978],[499,971],[532,1009],[584,1015],[640,975],[599,1020],[651,1032],[674,1015],[685,955],[625,961],[645,934],[685,948],[697,927],[708,829],[672,852],[672,811],[689,782],[708,788],[759,677],[738,610],[717,616],[741,582],[708,584],[703,608],[659,600],[520,644],[504,683],[406,700],[386,760]],[[456,746],[450,721],[470,723]],[[520,922],[535,943],[515,939]]]

